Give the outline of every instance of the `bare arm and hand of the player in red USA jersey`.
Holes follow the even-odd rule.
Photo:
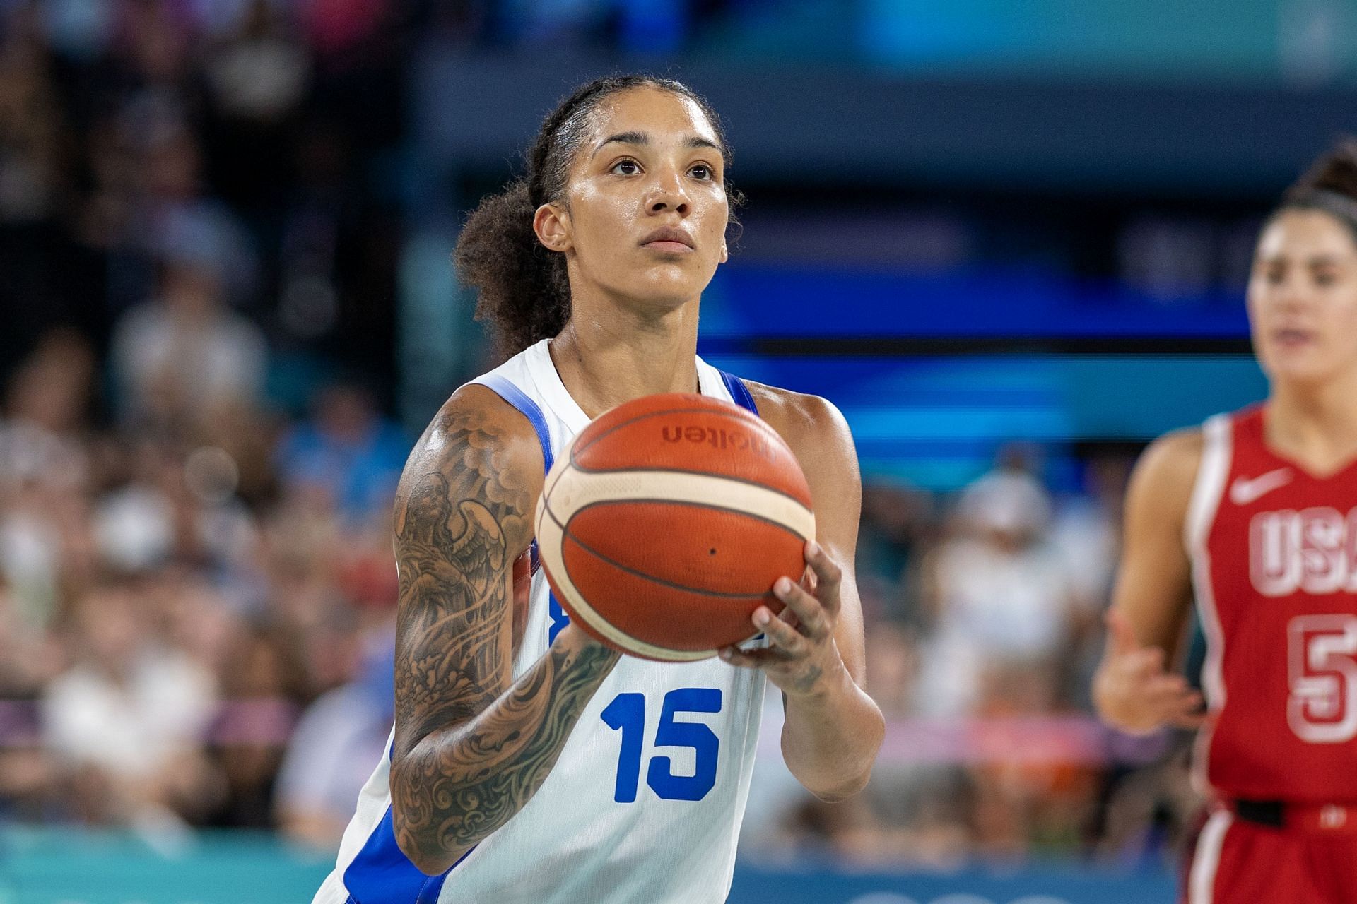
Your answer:
[[[1183,525],[1201,458],[1201,434],[1177,432],[1145,450],[1126,491],[1126,526],[1107,646],[1094,676],[1094,705],[1133,733],[1196,726],[1201,698],[1170,674],[1191,607]]]

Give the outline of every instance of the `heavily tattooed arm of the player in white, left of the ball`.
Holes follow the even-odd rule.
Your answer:
[[[396,491],[396,842],[427,874],[522,809],[617,653],[566,626],[512,680],[513,561],[532,539],[541,453],[518,412],[459,390]]]

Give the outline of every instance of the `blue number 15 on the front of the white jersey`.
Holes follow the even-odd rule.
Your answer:
[[[665,694],[660,709],[660,728],[655,747],[691,747],[696,770],[692,775],[674,775],[673,760],[651,756],[646,770],[646,785],[666,801],[700,801],[716,783],[716,751],[721,739],[700,722],[676,722],[676,713],[719,713],[721,689],[678,687]],[[641,782],[642,733],[646,731],[646,695],[617,694],[603,710],[608,728],[622,731],[622,751],[617,755],[617,783],[613,800],[631,804],[636,800]]]

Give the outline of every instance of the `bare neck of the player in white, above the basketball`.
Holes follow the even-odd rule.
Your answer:
[[[586,415],[666,392],[697,392],[697,300],[660,317],[575,308],[551,340],[560,382]]]

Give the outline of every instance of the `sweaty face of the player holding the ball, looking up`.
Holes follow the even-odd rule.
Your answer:
[[[577,297],[601,291],[674,308],[700,295],[726,260],[723,179],[719,140],[702,108],[632,88],[594,111],[565,205],[548,205],[559,211],[546,217],[547,207],[539,210],[537,232],[567,253]]]

